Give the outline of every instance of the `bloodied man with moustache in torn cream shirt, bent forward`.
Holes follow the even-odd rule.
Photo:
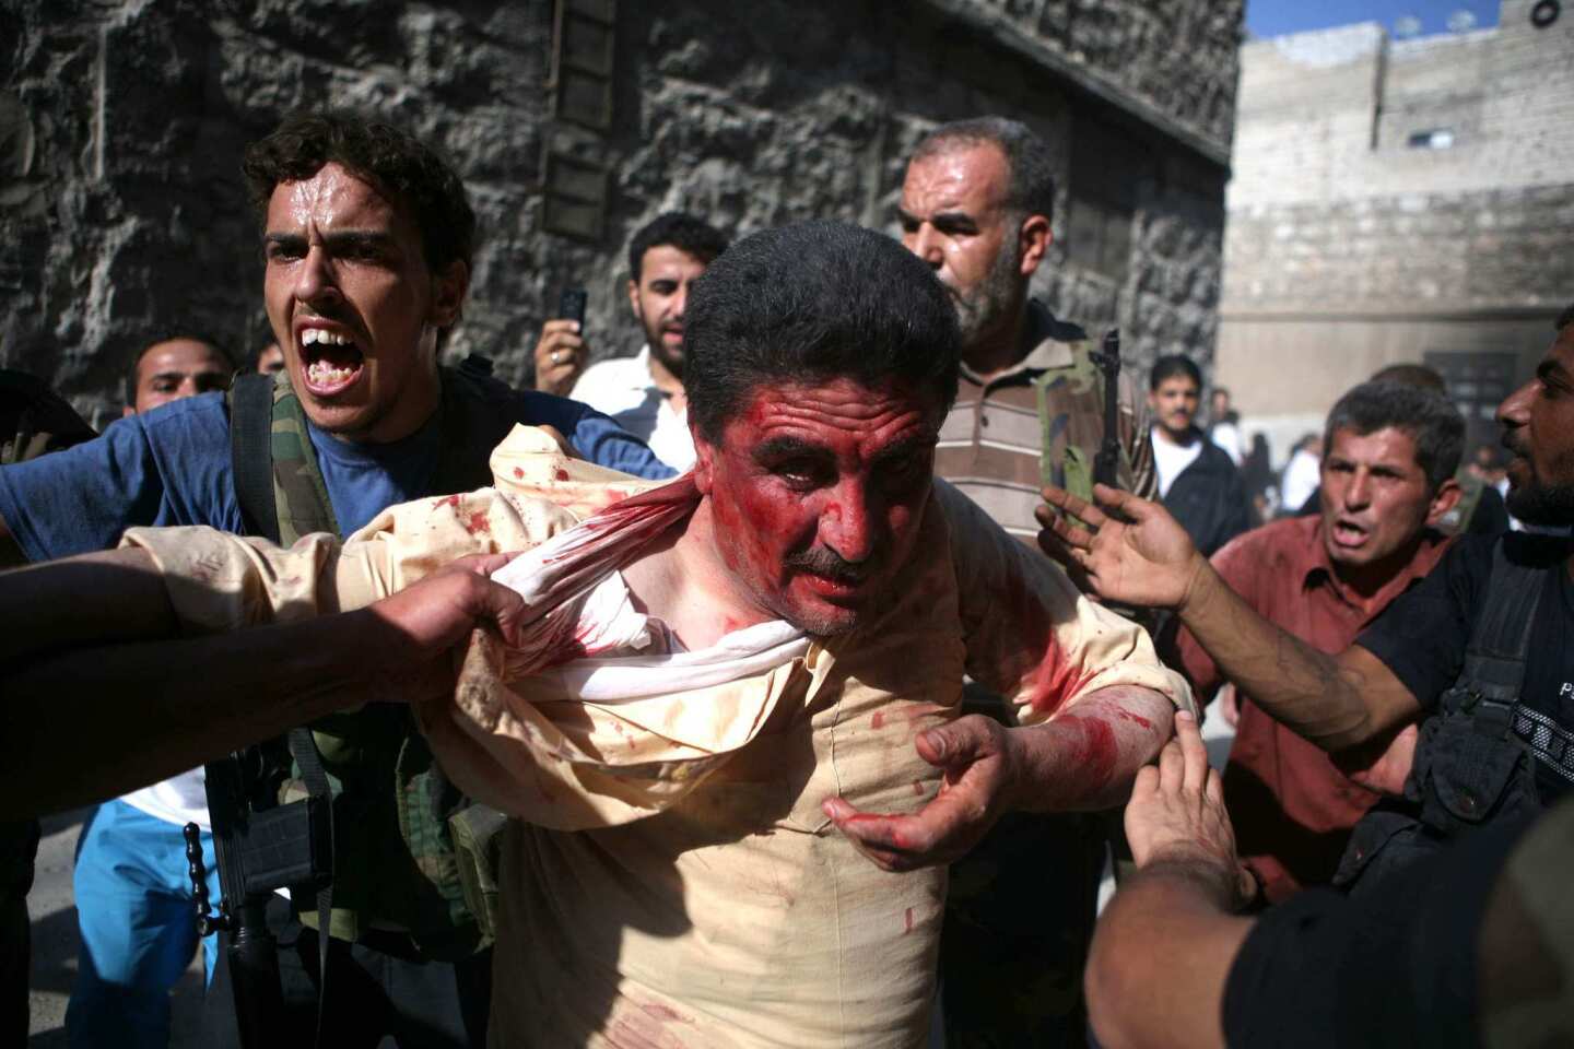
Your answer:
[[[228,626],[526,549],[494,577],[538,618],[477,632],[416,709],[453,782],[516,818],[494,1043],[919,1044],[944,863],[1009,810],[1118,804],[1190,695],[933,480],[955,311],[894,241],[756,234],[696,283],[685,341],[697,464],[671,484],[519,429],[497,488],[342,549],[134,530],[121,557]],[[965,675],[1009,725],[960,714]]]

